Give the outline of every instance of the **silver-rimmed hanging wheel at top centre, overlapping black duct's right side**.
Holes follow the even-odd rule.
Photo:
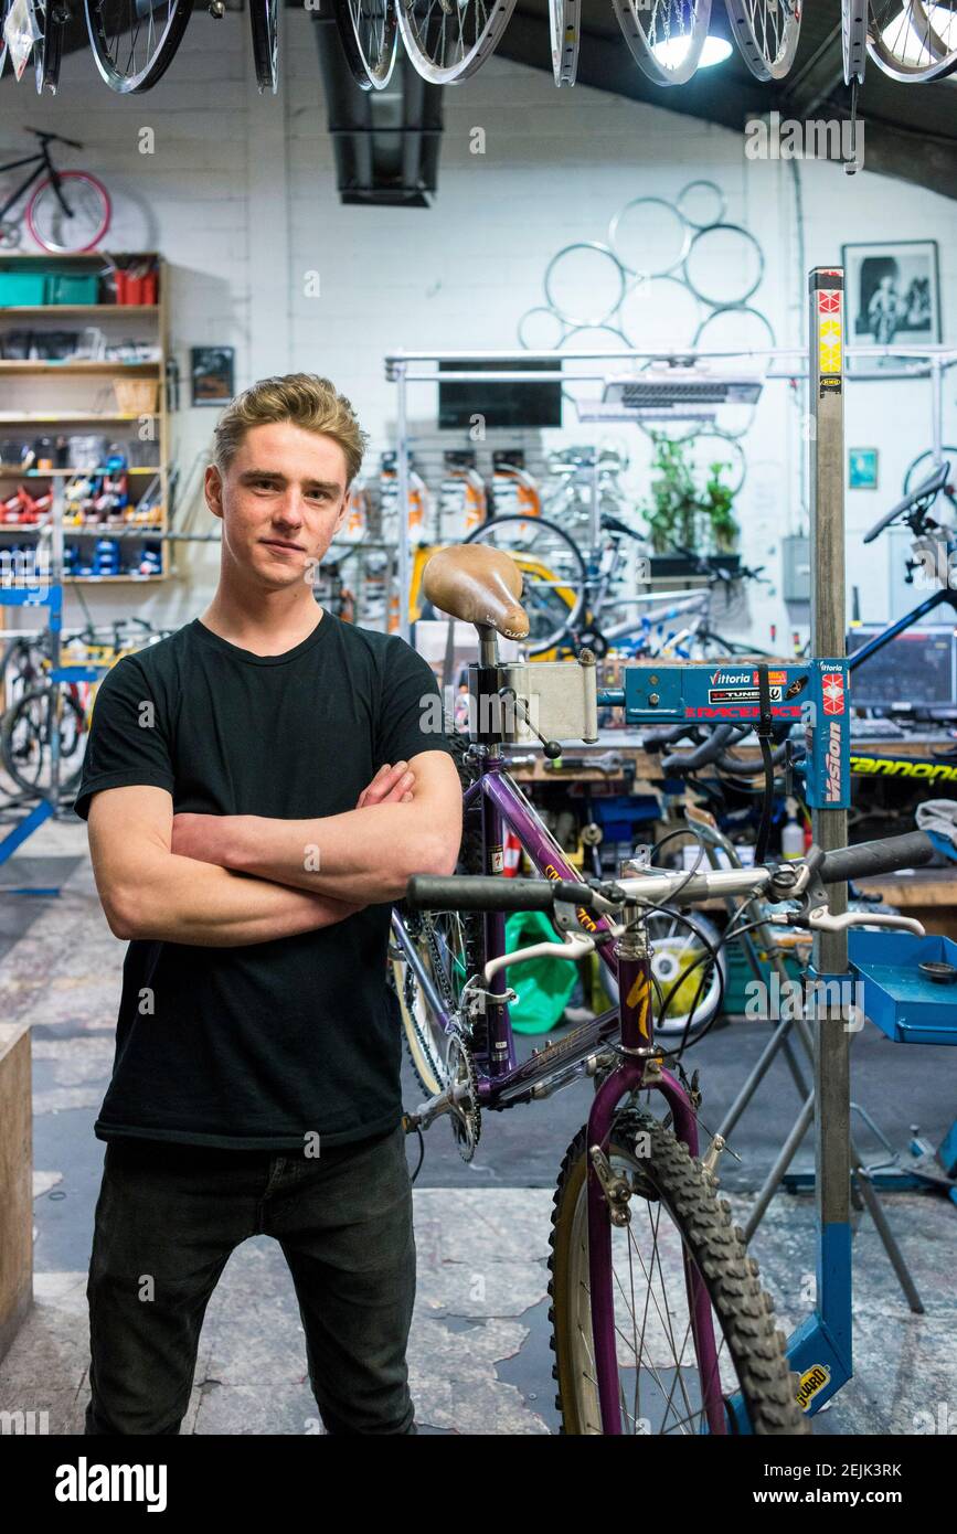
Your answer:
[[[399,0],[413,67],[434,86],[468,80],[494,54],[515,0]]]

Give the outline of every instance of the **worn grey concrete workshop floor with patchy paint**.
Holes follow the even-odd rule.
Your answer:
[[[103,1143],[92,1134],[113,1052],[123,945],[95,894],[80,822],[48,824],[0,867],[0,888],[54,885],[58,899],[0,897],[0,1008],[29,1017],[34,1054],[35,1307],[0,1364],[0,1411],[49,1411],[51,1433],[77,1433],[87,1399],[86,1267]],[[765,1042],[758,1023],[713,1032],[695,1051],[713,1127]],[[525,1049],[534,1040],[525,1040]],[[854,1040],[853,1092],[894,1144],[919,1123],[937,1143],[957,1112],[954,1055],[903,1049],[870,1025]],[[405,1101],[419,1091],[406,1074]],[[439,1123],[425,1137],[416,1183],[417,1307],[409,1368],[420,1431],[555,1433],[548,1324],[552,1187],[566,1144],[587,1114],[590,1088],[486,1115],[471,1166]],[[742,1118],[722,1183],[744,1223],[755,1190],[798,1109],[778,1063]],[[863,1147],[874,1150],[862,1132]],[[417,1141],[409,1141],[409,1164]],[[796,1164],[813,1161],[805,1141]],[[870,1216],[856,1216],[856,1376],[814,1419],[819,1434],[913,1434],[940,1424],[957,1399],[957,1209],[946,1198],[885,1198],[922,1293],[913,1316]],[[814,1209],[781,1193],[751,1252],[790,1332],[813,1304]],[[480,1296],[480,1298],[477,1298]],[[939,1430],[939,1427],[937,1427]],[[302,1332],[279,1247],[239,1247],[210,1302],[184,1433],[321,1431],[305,1378]]]

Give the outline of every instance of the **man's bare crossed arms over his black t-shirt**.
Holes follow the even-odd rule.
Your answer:
[[[462,834],[445,752],[383,767],[354,810],[316,821],[173,815],[166,788],[97,793],[89,839],[110,931],[239,946],[314,931],[451,873]]]

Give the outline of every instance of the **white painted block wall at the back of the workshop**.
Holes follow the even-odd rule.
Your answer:
[[[675,199],[699,176],[719,183],[727,219],[747,225],[764,249],[765,276],[751,302],[782,342],[799,341],[805,273],[791,173],[785,163],[745,158],[741,135],[581,86],[558,92],[544,72],[492,60],[445,92],[431,209],[342,207],[311,21],[294,12],[284,21],[275,98],[259,97],[252,83],[245,17],[216,23],[202,11],[169,75],[146,97],[112,95],[87,55],[66,61],[55,100],[40,101],[29,80],[0,91],[5,144],[17,141],[21,121],[83,138],[77,161],[101,173],[115,199],[113,249],[158,249],[170,262],[172,345],[184,379],[189,348],[199,344],[236,347],[238,387],[270,371],[325,373],[371,431],[373,468],[394,430],[385,351],[514,347],[517,322],[541,302],[544,268],[561,245],[606,239],[609,219],[630,198]],[[155,130],[153,155],[138,152],[143,127]],[[485,129],[485,155],[471,152],[474,127]],[[945,341],[957,342],[957,204],[867,170],[848,178],[833,164],[805,163],[801,178],[804,267],[837,262],[847,241],[937,239]],[[310,272],[319,273],[319,296],[305,296]],[[957,436],[954,393],[948,385],[945,440]],[[426,434],[429,394],[423,388],[413,400]],[[209,410],[184,408],[176,417],[184,472],[206,449],[212,423]],[[888,554],[882,543],[862,551],[859,534],[897,497],[929,430],[926,384],[848,387],[848,446],[880,449],[879,492],[853,491],[847,503],[848,565],[865,618],[885,614]],[[561,437],[589,434],[594,428],[569,428]],[[615,434],[630,451],[641,497],[647,440],[635,428]],[[778,578],[779,540],[801,525],[802,511],[798,410],[785,384],[765,388],[745,446],[744,552]],[[195,525],[210,522],[196,508]],[[186,621],[207,601],[216,560],[198,549],[178,560],[184,580],[152,591],[84,588],[86,601],[98,612]],[[787,623],[776,594],[753,597],[750,618],[759,643],[771,621]],[[747,624],[747,615],[739,621]]]

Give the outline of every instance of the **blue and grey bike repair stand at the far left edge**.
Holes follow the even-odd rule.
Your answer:
[[[60,808],[60,683],[63,681],[95,681],[98,672],[87,666],[60,664],[60,637],[63,630],[63,505],[64,485],[60,476],[54,476],[51,505],[51,557],[49,568],[43,569],[43,561],[35,561],[31,575],[23,574],[23,580],[14,580],[11,586],[0,584],[0,606],[5,607],[46,607],[49,611],[51,634],[51,670],[49,680],[55,687],[54,719],[49,739],[51,752],[51,784],[41,795],[40,802],[18,821],[5,838],[0,839],[0,864],[8,862],[23,842],[38,830],[44,821],[55,819]],[[40,551],[41,543],[37,543]],[[9,703],[9,700],[6,700]],[[3,885],[3,894],[28,896],[58,896],[60,885]]]

